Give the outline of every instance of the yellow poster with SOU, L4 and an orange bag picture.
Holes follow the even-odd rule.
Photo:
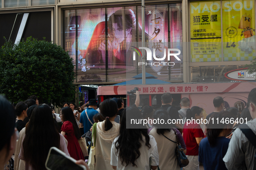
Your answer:
[[[222,1],[224,61],[255,58],[254,0]]]

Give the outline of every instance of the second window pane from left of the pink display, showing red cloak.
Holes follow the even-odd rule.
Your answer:
[[[106,82],[105,13],[105,8],[77,10],[77,82]]]

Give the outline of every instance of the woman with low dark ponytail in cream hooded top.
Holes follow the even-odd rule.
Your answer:
[[[113,99],[106,99],[100,105],[100,114],[106,120],[97,123],[95,170],[113,170],[110,165],[110,153],[112,142],[119,133],[120,124],[114,122],[117,111],[117,103]]]

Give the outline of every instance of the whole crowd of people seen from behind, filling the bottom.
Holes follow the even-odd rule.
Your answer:
[[[76,164],[95,170],[199,170],[199,163],[204,170],[256,169],[256,141],[252,140],[256,138],[256,88],[247,103],[238,101],[231,108],[224,108],[223,98],[214,98],[205,130],[196,121],[172,125],[149,121],[127,128],[132,119],[204,119],[204,109],[191,107],[188,98],[181,99],[177,110],[172,106],[172,94],[164,93],[162,107],[146,105],[139,110],[139,91],[135,95],[135,104],[126,108],[121,98],[100,104],[90,99],[78,108],[65,102],[59,114],[51,106],[39,104],[35,95],[15,106],[0,96],[0,166],[4,170],[45,170],[49,149],[56,147],[77,160]],[[246,125],[214,123],[237,118],[246,119]],[[80,146],[81,137],[85,137],[89,156]],[[177,150],[178,145],[181,149]],[[180,164],[177,151],[186,155],[188,164]]]

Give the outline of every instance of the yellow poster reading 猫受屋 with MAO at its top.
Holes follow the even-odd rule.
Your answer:
[[[220,1],[190,3],[191,62],[221,61]]]

